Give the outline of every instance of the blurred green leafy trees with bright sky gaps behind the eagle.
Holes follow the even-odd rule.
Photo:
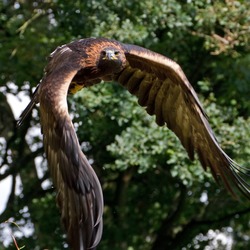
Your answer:
[[[250,167],[249,1],[0,0],[0,249],[68,248],[38,110],[20,129],[15,120],[49,54],[85,37],[137,44],[177,61],[222,148]],[[232,199],[191,162],[135,97],[103,83],[68,101],[103,187],[98,249],[250,249],[250,203]]]

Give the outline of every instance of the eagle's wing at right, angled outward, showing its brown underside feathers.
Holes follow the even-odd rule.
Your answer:
[[[250,198],[245,169],[220,148],[198,97],[180,66],[160,54],[135,45],[124,44],[128,66],[115,80],[138,97],[156,122],[179,137],[190,159],[195,152],[206,169],[220,178],[233,196],[238,191]],[[247,171],[247,170],[246,170]],[[220,178],[219,178],[220,177]]]

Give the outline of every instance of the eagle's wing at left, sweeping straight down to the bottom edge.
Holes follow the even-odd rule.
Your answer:
[[[45,77],[21,116],[40,102],[44,148],[69,244],[74,250],[95,249],[102,236],[103,195],[99,180],[82,153],[68,114],[69,85],[84,61],[67,45],[52,53]],[[19,122],[20,123],[20,122]]]

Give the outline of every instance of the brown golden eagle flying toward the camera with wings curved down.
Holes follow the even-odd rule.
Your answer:
[[[18,121],[21,125],[40,103],[44,148],[72,249],[96,248],[104,205],[101,185],[70,119],[67,94],[101,81],[118,82],[137,96],[159,126],[166,124],[178,136],[191,160],[196,153],[203,168],[210,168],[233,196],[250,199],[249,170],[221,149],[197,94],[176,62],[136,45],[81,39],[51,53],[45,75]]]

